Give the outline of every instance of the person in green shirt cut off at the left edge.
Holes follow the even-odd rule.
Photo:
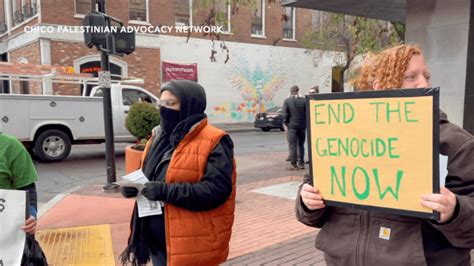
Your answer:
[[[38,175],[28,151],[15,137],[2,134],[0,128],[0,189],[29,192],[30,216],[21,227],[28,234],[36,232],[38,210],[36,180],[38,180]]]

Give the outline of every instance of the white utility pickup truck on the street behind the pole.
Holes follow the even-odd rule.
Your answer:
[[[41,161],[64,160],[72,144],[105,142],[102,90],[91,96],[0,94],[0,132],[17,137]],[[133,142],[125,128],[130,106],[137,101],[156,103],[143,88],[113,84],[111,89],[116,142]]]

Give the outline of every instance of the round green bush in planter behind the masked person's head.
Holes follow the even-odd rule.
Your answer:
[[[155,105],[147,102],[137,102],[130,107],[125,127],[137,138],[139,143],[151,135],[151,130],[160,124],[160,112]]]

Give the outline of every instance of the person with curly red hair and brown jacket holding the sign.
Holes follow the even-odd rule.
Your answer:
[[[354,85],[359,90],[430,87],[421,50],[400,45],[373,56]],[[440,153],[448,156],[448,176],[440,193],[420,204],[440,213],[439,221],[326,206],[324,195],[306,176],[296,199],[297,219],[322,228],[316,248],[328,265],[471,265],[474,248],[474,137],[440,111]],[[416,178],[413,177],[413,178]],[[391,228],[390,239],[377,237]],[[364,248],[358,248],[364,247]]]

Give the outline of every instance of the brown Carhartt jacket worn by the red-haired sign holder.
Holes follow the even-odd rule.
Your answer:
[[[440,153],[448,156],[446,188],[456,194],[458,202],[446,224],[332,206],[310,211],[298,192],[296,217],[308,226],[321,228],[316,248],[324,252],[326,263],[470,265],[474,248],[474,137],[451,124],[443,112]],[[391,230],[388,240],[380,237],[383,228]]]

